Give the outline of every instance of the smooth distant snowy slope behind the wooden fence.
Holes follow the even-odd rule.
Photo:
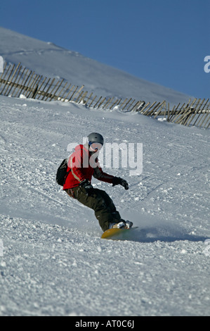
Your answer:
[[[63,49],[52,42],[41,42],[3,27],[0,27],[0,55],[6,62],[21,62],[39,75],[65,78],[73,85],[85,85],[85,90],[98,96],[132,97],[146,102],[166,100],[171,106],[188,102],[190,98],[86,58],[76,51]]]

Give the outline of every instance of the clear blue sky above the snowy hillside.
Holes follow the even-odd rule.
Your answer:
[[[209,0],[6,0],[0,25],[208,98],[209,13]]]

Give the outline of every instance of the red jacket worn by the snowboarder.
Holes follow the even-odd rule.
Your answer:
[[[72,187],[78,186],[83,180],[91,182],[92,176],[109,183],[112,183],[114,177],[103,172],[96,154],[91,155],[88,151],[88,145],[78,145],[75,148],[74,153],[68,160],[67,171],[70,169],[71,171],[67,175],[63,189],[72,189]]]

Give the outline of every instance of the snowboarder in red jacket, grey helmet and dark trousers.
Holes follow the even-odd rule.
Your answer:
[[[122,220],[110,196],[102,189],[91,185],[92,176],[112,186],[122,185],[129,189],[126,180],[104,173],[98,162],[98,154],[104,143],[103,136],[93,132],[88,135],[86,144],[79,144],[67,161],[67,178],[63,189],[81,204],[92,208],[103,231],[111,227],[131,227],[130,221]]]

